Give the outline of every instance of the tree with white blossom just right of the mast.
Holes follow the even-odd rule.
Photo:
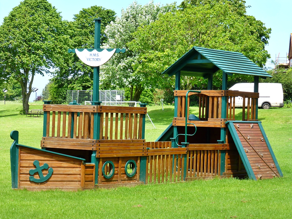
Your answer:
[[[130,87],[130,100],[138,101],[145,88],[156,85],[151,75],[136,74],[132,63],[136,62],[139,51],[133,51],[127,46],[132,41],[133,33],[138,27],[144,27],[158,19],[159,14],[174,11],[175,5],[160,6],[153,1],[144,6],[133,2],[126,10],[121,11],[121,17],[111,22],[105,29],[108,41],[104,48],[126,48],[126,52],[114,55],[105,65],[101,66],[101,87],[104,89]]]

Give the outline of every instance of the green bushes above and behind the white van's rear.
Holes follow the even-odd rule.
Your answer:
[[[272,69],[267,71],[272,78],[260,79],[260,83],[281,83],[283,88],[284,100],[292,100],[292,68]]]

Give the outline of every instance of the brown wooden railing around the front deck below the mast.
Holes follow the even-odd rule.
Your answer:
[[[100,139],[142,139],[146,107],[44,104],[45,137],[93,139],[94,117],[100,113]]]

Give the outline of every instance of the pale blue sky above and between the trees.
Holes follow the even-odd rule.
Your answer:
[[[73,15],[79,13],[82,8],[88,8],[93,5],[102,6],[107,9],[114,10],[117,15],[121,14],[121,9],[126,8],[131,4],[132,0],[107,0],[107,1],[92,1],[92,0],[48,0],[58,11],[61,11],[61,15],[64,20],[72,20]],[[139,4],[147,4],[148,0],[138,0]],[[154,1],[155,3],[167,4],[172,3],[171,0]],[[180,4],[181,0],[177,1]],[[9,14],[13,7],[20,3],[19,0],[0,0],[0,23],[3,22],[3,18]],[[266,46],[267,51],[270,53],[272,60],[275,60],[275,56],[280,53],[280,57],[286,57],[286,53],[289,49],[289,37],[292,32],[292,25],[290,22],[290,13],[292,8],[292,1],[290,0],[246,0],[247,14],[254,16],[257,20],[261,20],[265,23],[267,28],[272,28],[270,34],[269,44]],[[270,60],[266,63],[267,67],[273,67],[270,64]],[[45,77],[36,76],[33,82],[33,86],[39,88],[41,93],[44,86],[48,83],[48,79],[51,76]],[[35,98],[35,94],[31,95],[30,100]]]

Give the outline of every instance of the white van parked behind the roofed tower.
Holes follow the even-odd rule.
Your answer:
[[[229,90],[253,92],[253,83],[239,83],[234,84]],[[282,84],[276,83],[259,83],[258,92],[260,98],[258,99],[258,107],[263,109],[270,109],[270,107],[283,107],[283,88]],[[235,98],[235,107],[242,107],[242,97]],[[247,106],[247,98],[245,101]]]

